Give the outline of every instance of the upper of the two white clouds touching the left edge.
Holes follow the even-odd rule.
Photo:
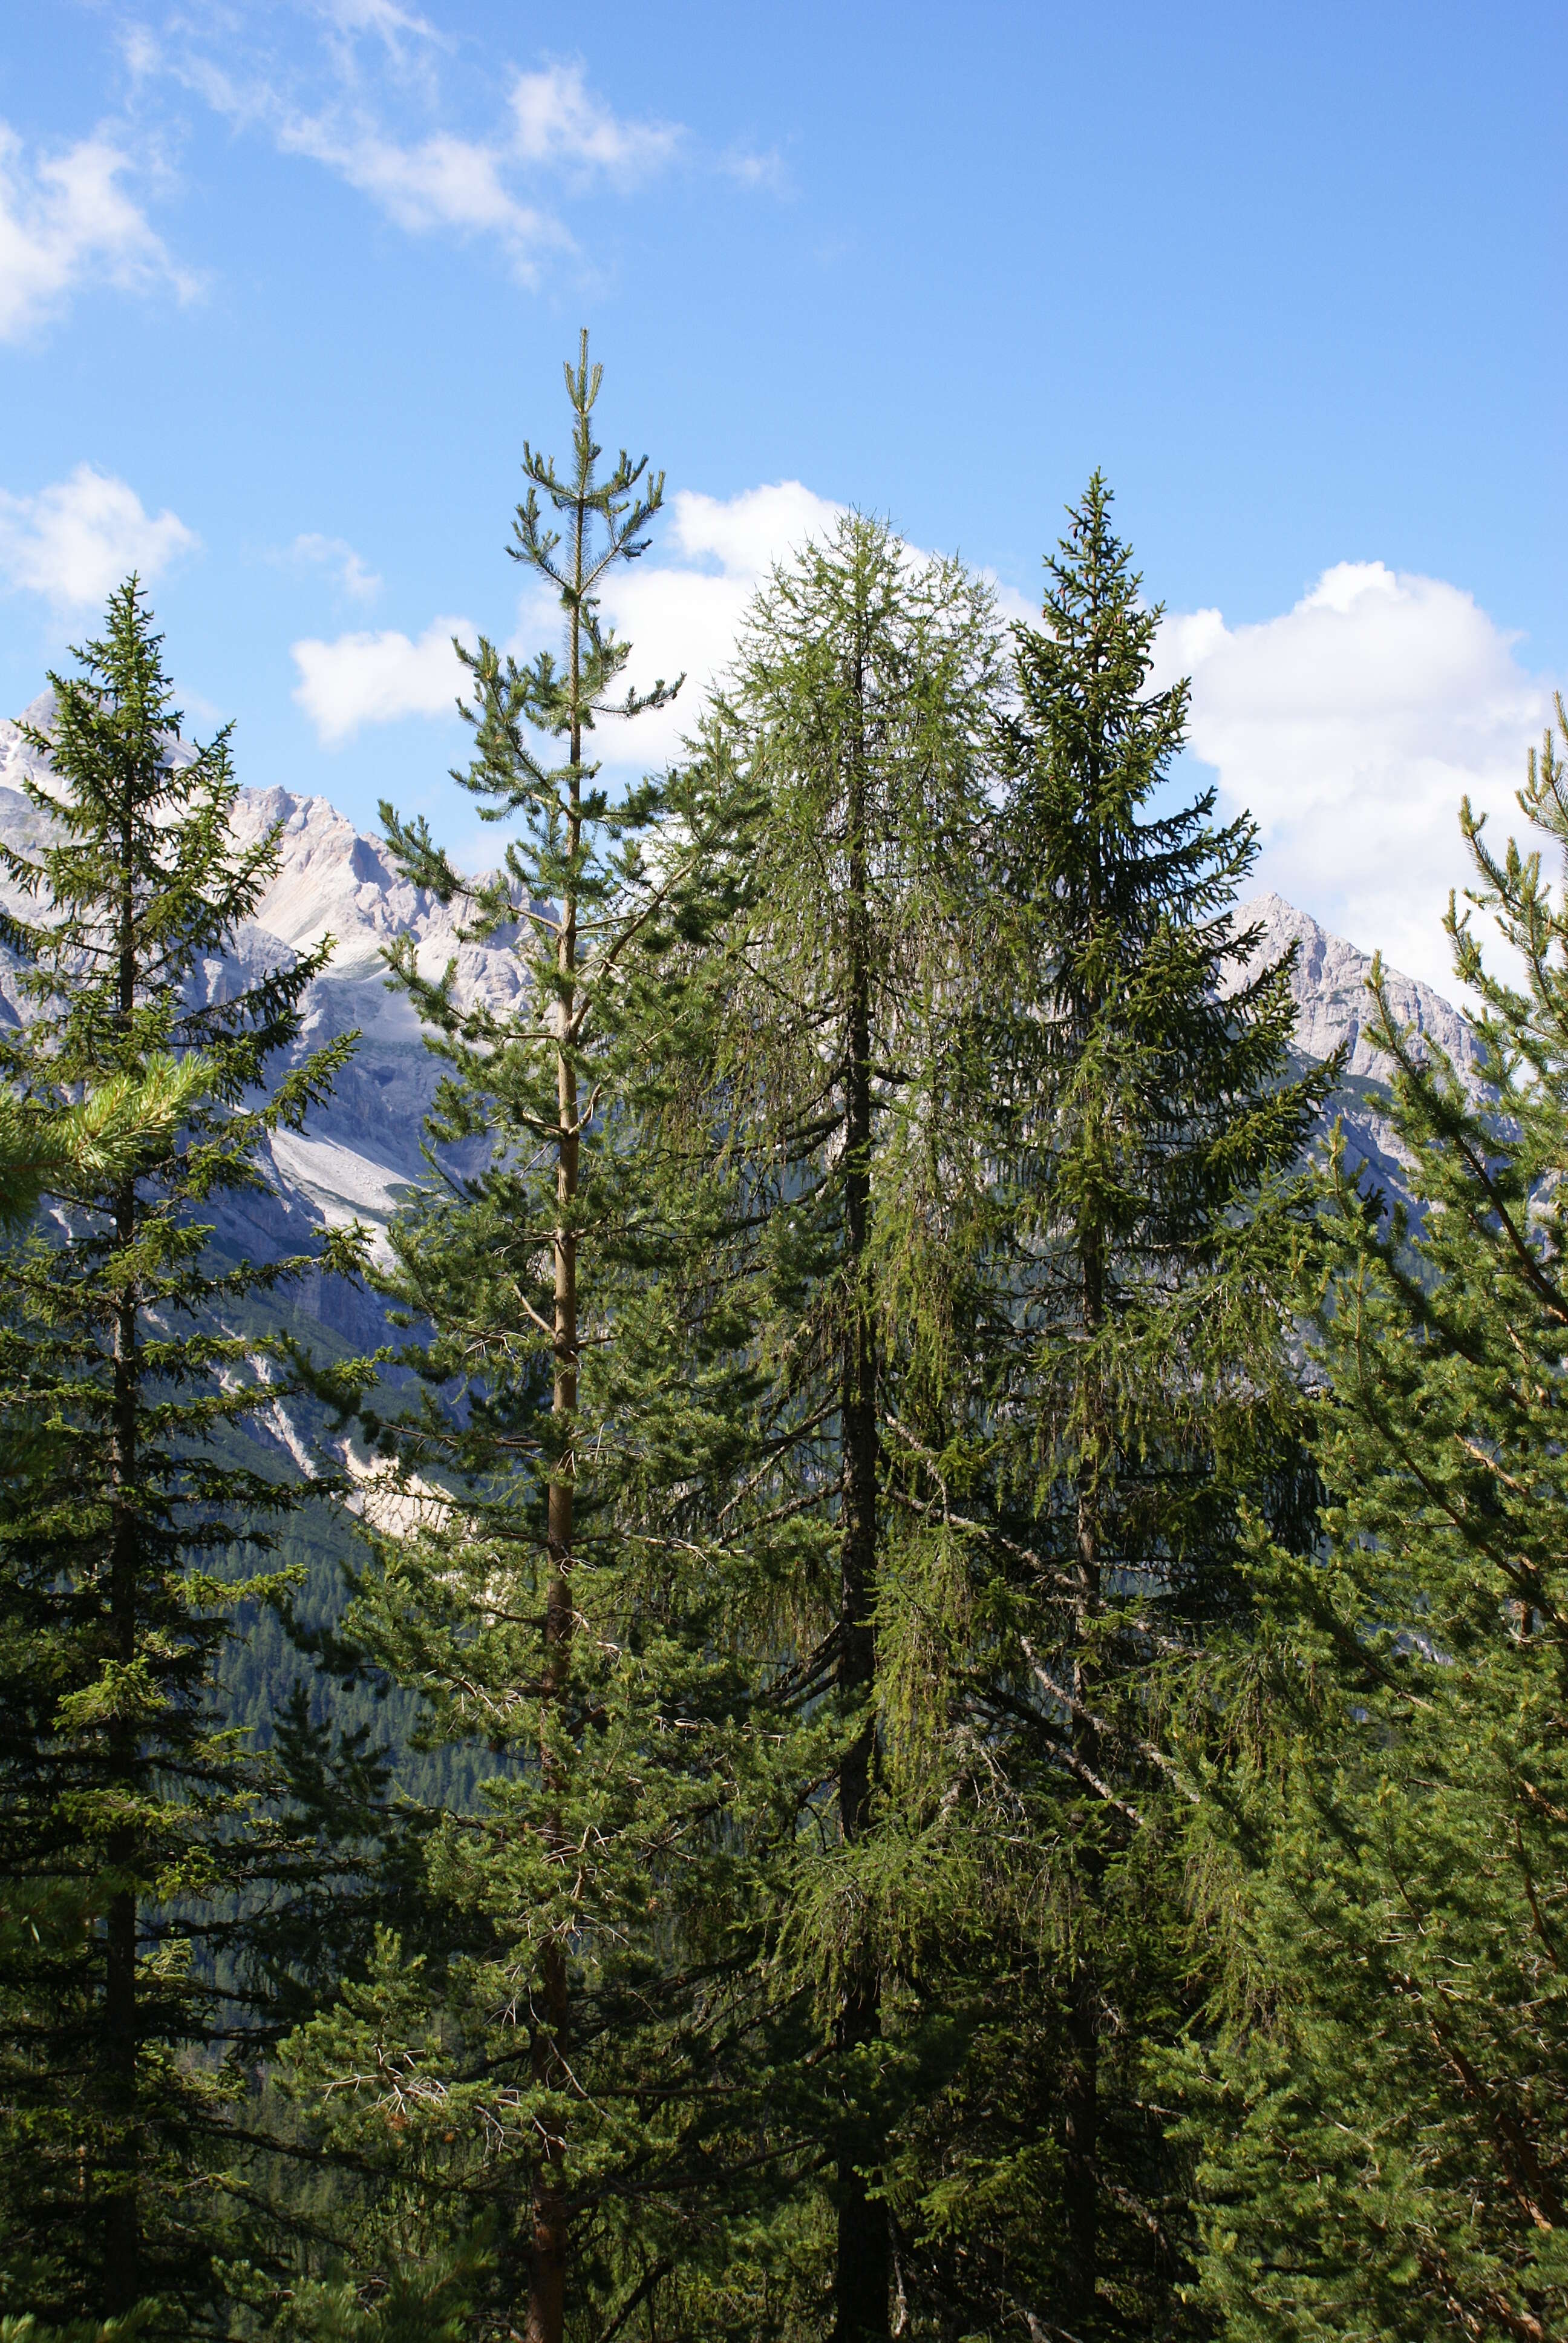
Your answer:
[[[120,185],[131,169],[105,131],[28,166],[16,131],[0,122],[0,342],[33,333],[80,284],[195,293]]]

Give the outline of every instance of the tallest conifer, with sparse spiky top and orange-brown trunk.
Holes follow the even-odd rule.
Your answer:
[[[734,1954],[715,1970],[689,1931],[722,1938],[731,1809],[769,1799],[741,1781],[766,1764],[722,1570],[680,1518],[708,1361],[729,1373],[736,1340],[689,1265],[703,1164],[670,1186],[649,1139],[682,970],[743,886],[717,855],[736,792],[701,761],[619,797],[600,780],[605,717],[675,689],[630,691],[630,647],[600,616],[663,483],[647,459],[600,466],[586,337],[565,377],[572,457],[525,448],[511,546],[558,595],[563,649],[466,656],[476,754],[457,778],[516,836],[495,876],[464,881],[384,808],[410,876],[516,965],[497,1003],[391,956],[445,1078],[431,1186],[391,1232],[424,1396],[366,1415],[391,1535],[354,1610],[429,1734],[492,1757],[480,1809],[450,1816],[434,1856],[471,1945],[405,1970],[389,1942],[373,1987],[291,2050],[323,2134],[377,2174],[366,2259],[405,2266],[483,2209],[488,2301],[530,2343],[626,2324],[705,2252]],[[363,2085],[394,2071],[391,2102]]]

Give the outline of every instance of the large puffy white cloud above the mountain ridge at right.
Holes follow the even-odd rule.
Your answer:
[[[1451,989],[1441,935],[1470,860],[1470,794],[1505,839],[1547,684],[1472,595],[1383,562],[1338,562],[1294,609],[1228,628],[1170,616],[1158,679],[1193,677],[1193,752],[1223,808],[1252,808],[1256,879],[1409,975]]]

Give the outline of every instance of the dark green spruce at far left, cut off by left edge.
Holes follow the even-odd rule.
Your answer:
[[[0,1256],[0,2235],[7,2303],[120,2317],[157,2296],[178,2324],[223,2240],[237,1910],[288,1858],[213,1708],[237,1607],[277,1591],[265,1523],[302,1500],[220,1455],[288,1387],[263,1389],[241,1314],[354,1263],[347,1242],[220,1261],[204,1211],[258,1179],[265,1134],[300,1127],[352,1043],[265,1092],[330,944],[209,989],[277,843],[234,851],[227,733],[180,740],[134,579],[75,656],[49,736],[28,733],[45,843],[0,848],[30,1003],[0,1080],[23,1134],[59,1118],[68,1141],[33,1157],[49,1214]]]

